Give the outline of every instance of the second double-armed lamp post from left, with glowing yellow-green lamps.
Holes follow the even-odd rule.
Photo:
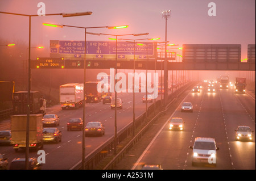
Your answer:
[[[82,113],[82,170],[84,170],[84,163],[85,163],[85,84],[86,84],[86,33],[97,35],[97,33],[90,33],[86,32],[87,29],[93,29],[93,28],[109,28],[109,29],[117,29],[117,28],[127,28],[128,26],[99,26],[99,27],[78,27],[78,26],[69,26],[65,24],[49,24],[49,23],[43,23],[45,26],[51,26],[51,27],[72,27],[72,28],[82,28],[84,29],[84,100],[83,100],[83,113]],[[116,74],[116,73],[115,73]]]

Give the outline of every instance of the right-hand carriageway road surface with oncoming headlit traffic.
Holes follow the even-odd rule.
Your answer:
[[[167,170],[255,170],[255,95],[234,94],[233,89],[187,93],[183,102],[193,103],[193,113],[181,112],[179,106],[169,116],[169,119],[182,117],[184,131],[169,131],[167,120],[132,169],[140,169],[147,163],[160,164]],[[234,130],[238,125],[247,125],[254,131],[253,141],[235,140]],[[196,137],[216,140],[220,148],[216,167],[210,164],[192,166],[189,146],[193,146]]]

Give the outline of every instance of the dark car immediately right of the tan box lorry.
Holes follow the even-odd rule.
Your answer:
[[[61,142],[62,133],[58,128],[44,128],[43,141],[44,142]]]

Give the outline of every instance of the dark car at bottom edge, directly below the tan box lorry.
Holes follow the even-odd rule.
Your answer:
[[[43,164],[38,163],[38,159],[35,157],[28,158],[28,170],[41,170]],[[26,158],[14,158],[10,163],[10,170],[25,170]]]

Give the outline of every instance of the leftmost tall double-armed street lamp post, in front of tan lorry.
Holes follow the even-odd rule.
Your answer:
[[[0,11],[2,14],[11,14],[11,15],[18,15],[18,16],[27,16],[29,18],[29,31],[28,31],[28,86],[27,86],[27,125],[26,125],[26,170],[28,170],[28,154],[29,154],[29,131],[30,131],[30,49],[31,49],[31,17],[34,16],[39,16],[38,14],[36,15],[27,15],[27,14],[18,14],[18,13],[13,13],[13,12],[3,12]],[[53,15],[62,15],[63,17],[71,17],[71,16],[83,16],[83,15],[90,15],[92,12],[77,12],[75,14],[65,14],[65,13],[58,13],[58,14],[45,14],[44,16],[53,16]]]

